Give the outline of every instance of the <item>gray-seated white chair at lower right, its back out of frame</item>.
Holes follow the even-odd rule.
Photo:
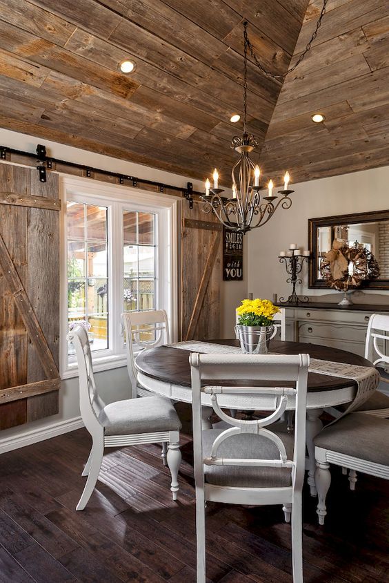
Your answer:
[[[350,413],[324,428],[314,439],[317,468],[317,515],[324,524],[326,496],[331,483],[330,463],[350,470],[350,490],[355,489],[356,470],[389,479],[389,420],[366,413]]]

